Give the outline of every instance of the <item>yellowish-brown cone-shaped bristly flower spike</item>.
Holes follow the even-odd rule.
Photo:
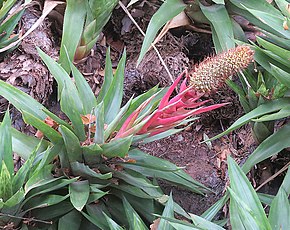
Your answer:
[[[227,78],[247,68],[253,61],[253,56],[254,51],[249,46],[238,46],[209,57],[189,73],[190,85],[200,92],[217,89]]]

